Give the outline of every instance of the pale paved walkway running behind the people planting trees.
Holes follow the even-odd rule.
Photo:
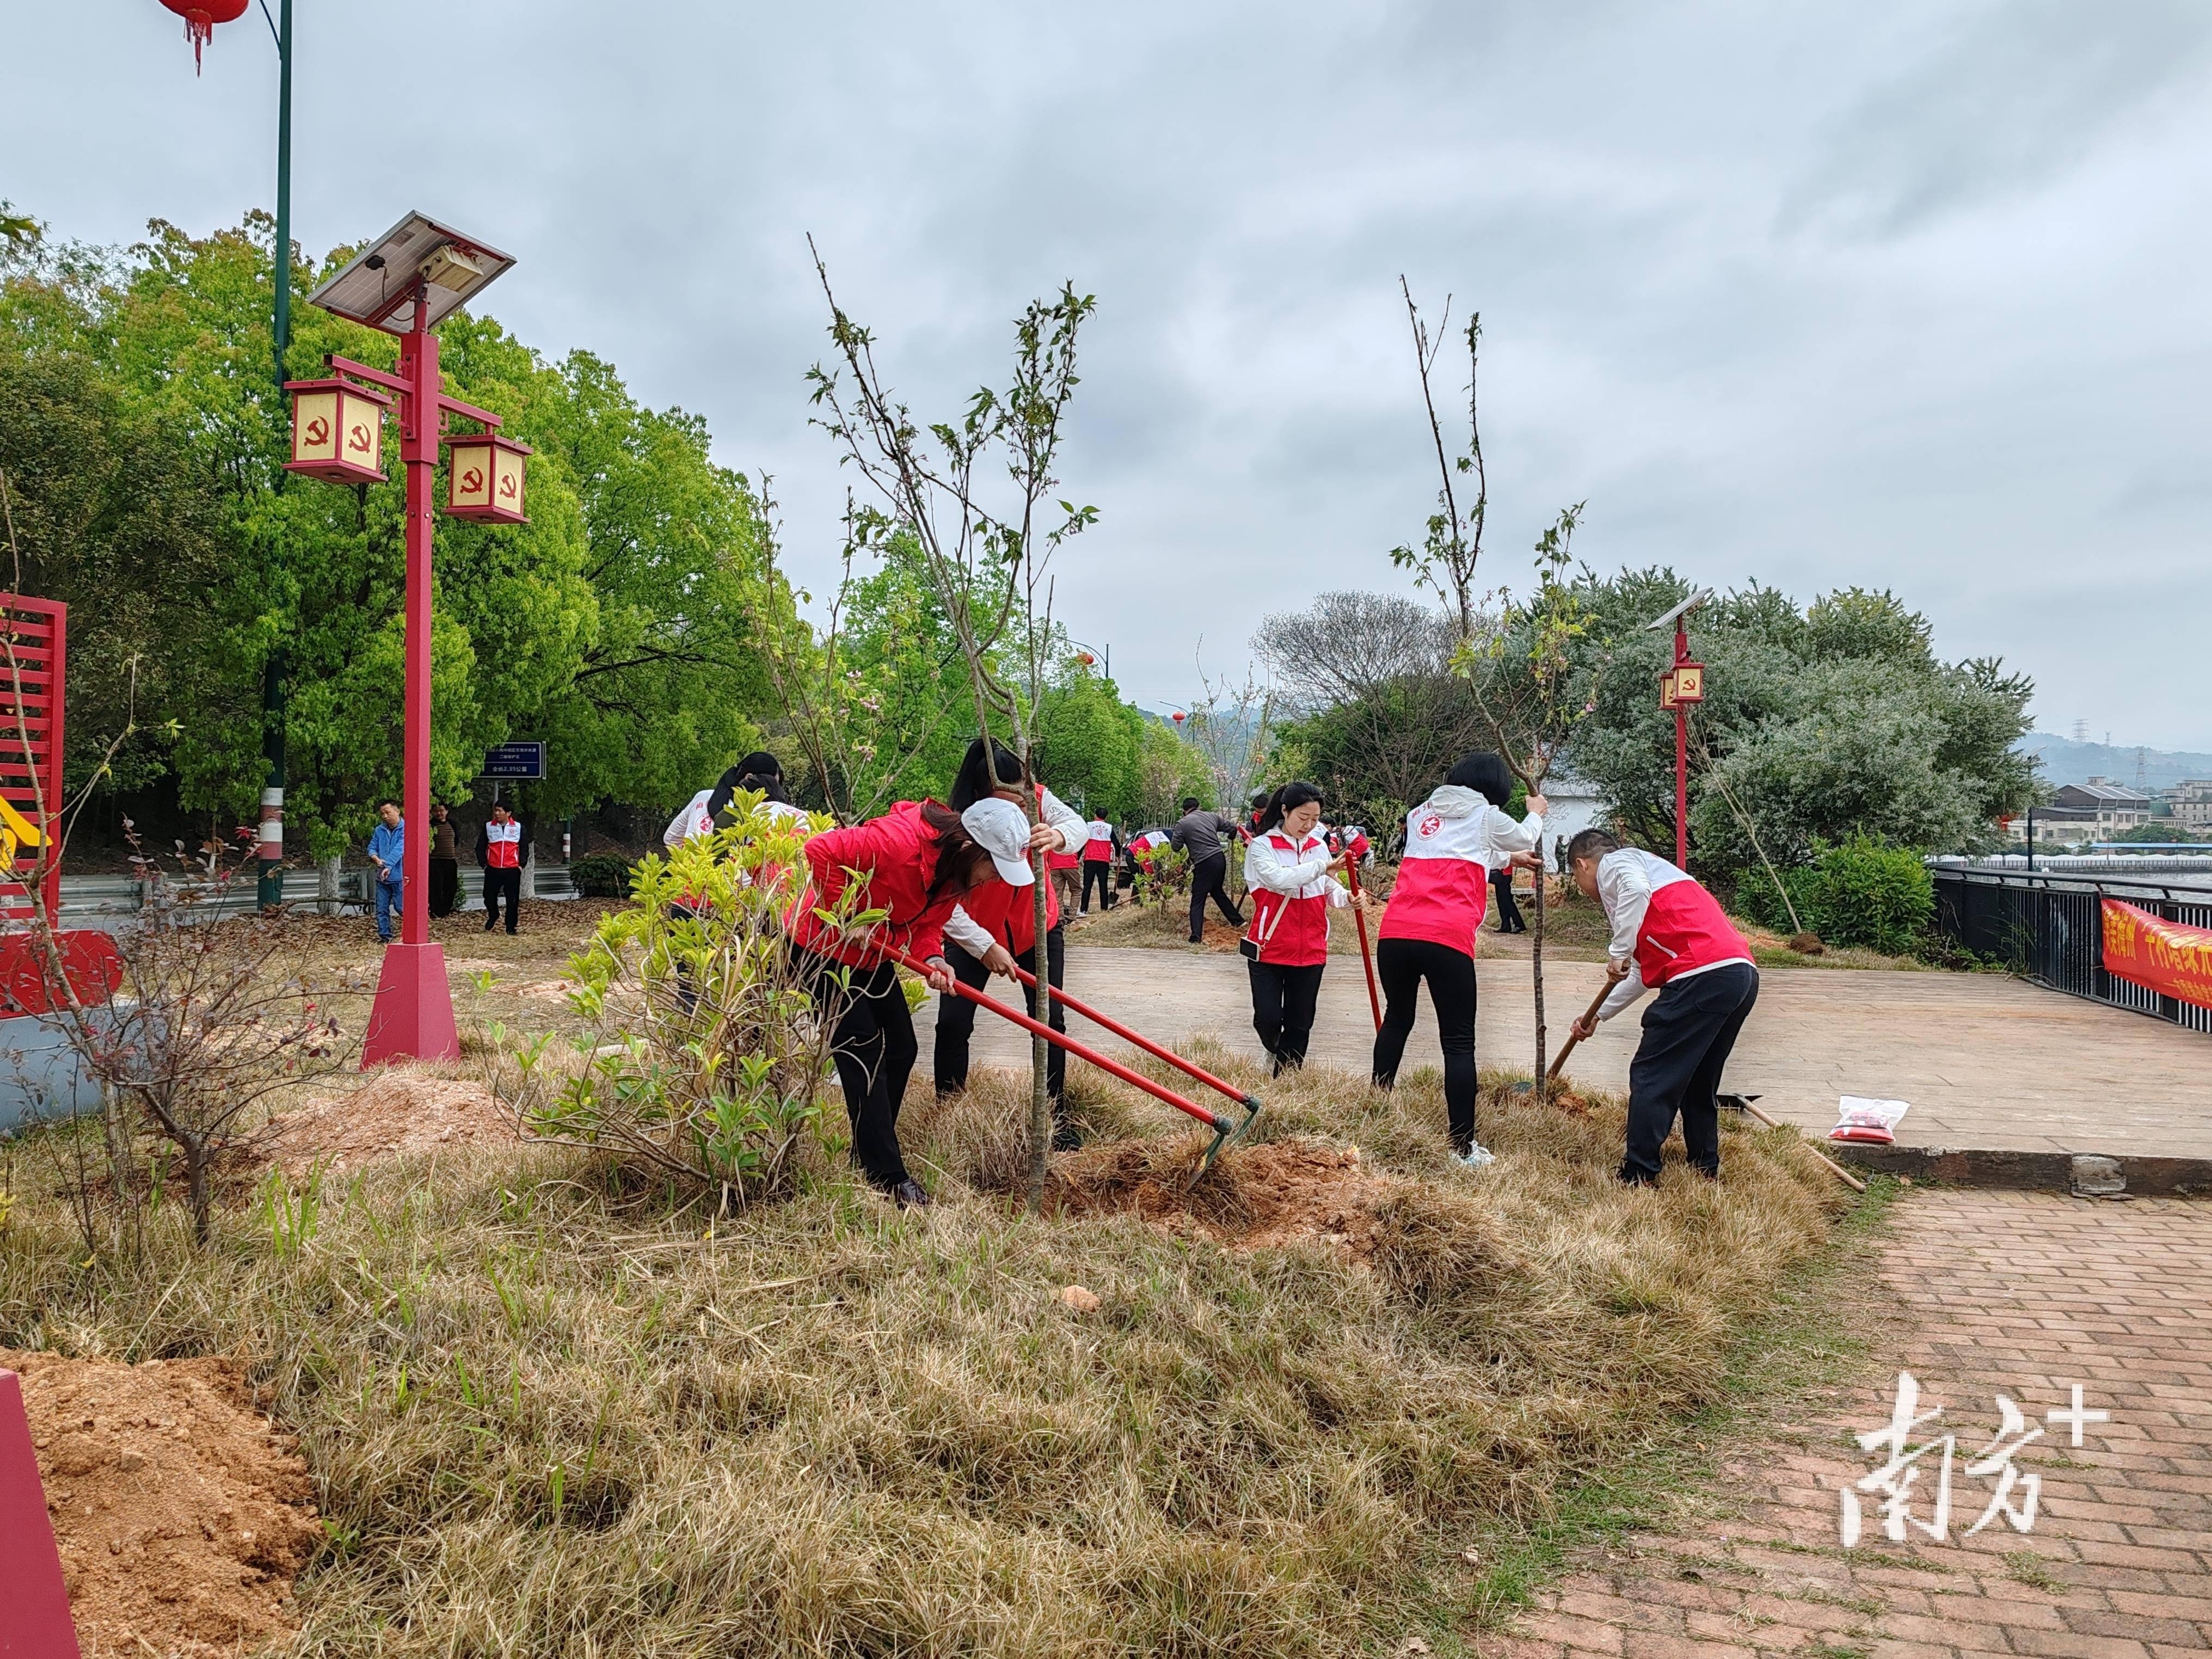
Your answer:
[[[1528,1066],[1526,962],[1489,960],[1478,973],[1478,1057]],[[1555,1046],[1601,980],[1597,962],[1546,967]],[[1237,956],[1086,949],[1077,931],[1068,991],[1164,1042],[1214,1035],[1237,1053],[1261,1053]],[[978,1060],[1026,1060],[1026,1037],[1000,1020],[984,1015],[975,1037]],[[1365,1071],[1371,1042],[1360,962],[1329,958],[1312,1055]],[[1624,1091],[1635,1046],[1628,1013],[1599,1026],[1568,1073]],[[927,1031],[922,1055],[927,1066]],[[1427,1006],[1407,1064],[1436,1064]],[[1911,1102],[1898,1135],[1907,1146],[2212,1157],[2212,1037],[1993,973],[1767,969],[1728,1079],[1812,1135],[1834,1128],[1838,1095],[1878,1095]]]

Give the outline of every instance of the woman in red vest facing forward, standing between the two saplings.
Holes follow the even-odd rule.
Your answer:
[[[1252,920],[1237,949],[1252,980],[1252,1029],[1279,1077],[1305,1064],[1321,971],[1329,962],[1329,907],[1352,902],[1329,874],[1334,860],[1321,834],[1321,790],[1285,783],[1270,794],[1245,847]]]

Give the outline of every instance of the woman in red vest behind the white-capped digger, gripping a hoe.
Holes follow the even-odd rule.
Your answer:
[[[1022,869],[1022,854],[1033,849],[1051,856],[1082,847],[1091,834],[1082,814],[1042,783],[1035,785],[1037,823],[1029,825],[1029,814],[1022,807],[1022,790],[1020,754],[993,739],[991,761],[987,763],[982,739],[978,737],[969,743],[967,757],[960,761],[960,772],[953,779],[951,805],[969,823],[969,834],[987,841],[993,856],[1004,863],[1004,874],[962,898],[951,920],[945,922],[945,960],[953,978],[975,991],[989,984],[993,973],[1002,973],[1009,980],[1013,978],[1013,969],[1022,969],[1031,978],[1037,975],[1037,898],[1033,883],[1024,880],[1033,872]],[[975,807],[987,801],[1011,807],[1022,814],[1024,823],[1015,825],[1004,812],[978,814]],[[1051,883],[1044,889],[1044,975],[1055,991],[1066,975],[1066,929],[1062,927],[1060,894]],[[1031,1018],[1035,1018],[1037,989],[1024,984],[1022,998],[1029,1004]],[[1046,1024],[1053,1031],[1068,1029],[1068,1015],[1060,1006],[1060,998],[1053,998]],[[958,991],[947,991],[938,998],[938,1037],[931,1057],[940,1095],[958,1095],[967,1088],[969,1040],[973,1033],[975,1004]],[[1066,1079],[1068,1053],[1060,1044],[1053,1044],[1053,1055],[1046,1062],[1046,1091],[1053,1097],[1053,1146],[1060,1150],[1073,1146],[1075,1139],[1062,1106]]]

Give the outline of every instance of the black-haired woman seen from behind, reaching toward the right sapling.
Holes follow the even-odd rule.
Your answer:
[[[1489,907],[1491,869],[1544,845],[1548,807],[1544,796],[1531,794],[1528,816],[1513,823],[1502,812],[1511,794],[1513,774],[1495,754],[1469,754],[1451,768],[1436,792],[1405,814],[1405,858],[1376,929],[1376,978],[1385,998],[1374,1055],[1376,1088],[1398,1082],[1398,1062],[1427,980],[1444,1046],[1451,1152],[1471,1170],[1493,1157],[1475,1139],[1475,933]],[[1542,869],[1537,880],[1544,880]]]

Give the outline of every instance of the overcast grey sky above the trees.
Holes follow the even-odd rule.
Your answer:
[[[274,0],[272,0],[274,4]],[[772,471],[801,573],[814,232],[920,414],[1097,294],[1057,613],[1139,701],[1391,588],[1436,473],[1398,274],[1480,305],[1493,582],[1891,586],[2046,730],[2212,750],[2212,9],[296,0],[294,237],[407,208],[487,307]],[[407,62],[414,51],[418,62]],[[274,51],[0,0],[0,195],[62,237],[272,201]],[[380,88],[369,77],[380,77]]]

